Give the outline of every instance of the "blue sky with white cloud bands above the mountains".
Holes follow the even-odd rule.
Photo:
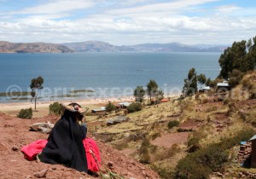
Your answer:
[[[256,36],[255,0],[0,0],[0,41],[225,44]]]

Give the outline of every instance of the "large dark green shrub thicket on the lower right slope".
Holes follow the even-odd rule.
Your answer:
[[[212,143],[207,147],[189,153],[185,158],[177,163],[176,178],[207,179],[212,171],[223,171],[224,166],[228,165],[228,149],[239,144],[240,141],[246,141],[254,135],[252,128],[242,129],[236,132],[234,136],[226,136],[218,143]],[[199,175],[200,174],[200,175]]]

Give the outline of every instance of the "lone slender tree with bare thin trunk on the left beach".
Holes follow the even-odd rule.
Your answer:
[[[37,109],[37,98],[39,95],[39,90],[42,90],[44,84],[44,78],[38,76],[38,78],[32,78],[30,88],[32,90],[31,95],[32,98],[35,100],[35,111]]]

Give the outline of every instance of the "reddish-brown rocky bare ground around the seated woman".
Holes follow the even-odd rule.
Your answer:
[[[38,122],[55,123],[55,116],[20,119],[0,113],[0,176],[1,178],[100,178],[90,176],[62,165],[48,165],[24,159],[20,148],[38,139],[46,139],[47,134],[29,131],[29,126]],[[90,135],[90,134],[89,134]],[[160,178],[156,172],[138,163],[123,153],[96,141],[100,148],[103,165],[108,170],[125,178]],[[102,167],[103,172],[107,169]]]

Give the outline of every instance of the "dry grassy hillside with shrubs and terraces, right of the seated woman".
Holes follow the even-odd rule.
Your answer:
[[[256,170],[242,168],[237,161],[240,141],[256,133],[255,94],[256,72],[247,73],[230,92],[212,90],[172,98],[145,106],[128,114],[129,121],[110,126],[104,126],[104,121],[119,113],[99,117],[94,119],[100,123],[92,132],[121,153],[151,166],[162,178],[208,178],[210,174],[240,178],[246,172],[256,176]],[[192,173],[198,175],[187,177]]]

